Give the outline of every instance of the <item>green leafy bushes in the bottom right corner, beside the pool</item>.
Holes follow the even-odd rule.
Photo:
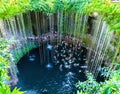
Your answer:
[[[96,82],[90,73],[87,77],[87,81],[76,84],[77,94],[120,94],[120,69],[111,71],[110,79],[101,83]]]

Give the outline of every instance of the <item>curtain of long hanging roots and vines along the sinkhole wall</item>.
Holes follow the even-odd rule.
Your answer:
[[[85,46],[89,48],[87,55],[88,70],[97,77],[99,72],[97,69],[108,56],[113,33],[109,32],[109,26],[101,16],[91,18],[92,17],[89,17],[88,15],[74,12],[69,13],[62,10],[58,10],[56,13],[49,15],[42,12],[28,12],[1,20],[0,36],[5,37],[10,41],[14,41],[13,44],[15,45],[18,44],[16,41],[23,40],[22,47],[25,49],[29,49],[29,46],[27,46],[28,37],[42,37],[43,34],[47,33],[51,33],[51,36],[49,37],[50,41],[54,38],[54,36],[52,36],[54,32],[59,35],[57,37],[57,42],[61,42],[63,35],[80,38],[82,41],[86,42]],[[89,19],[91,19],[90,23]],[[47,38],[44,40],[47,40]],[[32,46],[33,44],[31,44],[31,48]],[[51,47],[49,46],[48,49],[51,49]],[[25,52],[26,50],[22,49],[16,50],[16,53],[18,54]],[[43,55],[44,54],[45,52],[43,51]],[[20,56],[16,56],[17,55],[14,57],[19,60]],[[33,58],[30,59],[31,61],[34,61]],[[45,59],[46,57],[44,56],[44,60],[40,61],[44,62]],[[14,69],[12,70],[14,71]],[[15,72],[16,71],[14,71],[14,73]]]

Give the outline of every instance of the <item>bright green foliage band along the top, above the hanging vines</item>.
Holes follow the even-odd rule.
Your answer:
[[[9,18],[27,11],[42,11],[47,14],[57,10],[77,12],[95,16],[101,15],[109,24],[110,30],[120,32],[120,4],[111,0],[1,0],[0,19]]]

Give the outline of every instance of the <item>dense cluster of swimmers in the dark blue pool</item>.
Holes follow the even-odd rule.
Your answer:
[[[79,69],[86,61],[87,50],[81,46],[80,42],[71,43],[62,40],[54,47],[54,63],[59,66],[60,71],[63,69]]]

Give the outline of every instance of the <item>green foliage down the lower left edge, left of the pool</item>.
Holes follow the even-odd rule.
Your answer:
[[[8,68],[12,59],[10,54],[9,42],[4,38],[0,38],[0,94],[23,94],[19,89],[10,90],[10,86],[6,84],[8,77]]]

